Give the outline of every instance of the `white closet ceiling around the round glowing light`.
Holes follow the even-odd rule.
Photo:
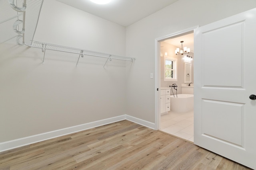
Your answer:
[[[178,0],[112,0],[105,5],[90,0],[57,1],[126,27]]]

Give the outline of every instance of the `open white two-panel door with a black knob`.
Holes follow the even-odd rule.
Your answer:
[[[256,169],[256,8],[194,31],[194,144]]]

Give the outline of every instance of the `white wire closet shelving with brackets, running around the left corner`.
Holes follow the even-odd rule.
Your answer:
[[[44,52],[44,56],[46,50],[53,50],[79,54],[78,61],[80,57],[84,57],[84,55],[106,58],[106,63],[107,61],[112,61],[112,59],[131,62],[135,60],[135,58],[132,57],[124,57],[120,55],[112,55],[86,49],[78,49],[73,47],[66,47],[62,45],[54,45],[50,43],[34,41],[34,35],[36,32],[36,27],[38,25],[43,2],[44,0],[0,0],[0,28],[3,28],[3,30],[9,32],[11,32],[11,29],[13,29],[11,34],[9,34],[9,32],[5,33],[5,31],[0,31],[2,32],[0,37],[4,37],[4,39],[0,38],[0,44],[16,37],[16,43],[18,45],[27,45],[29,47],[40,48],[42,49],[42,52]],[[20,17],[22,17],[23,20],[20,20]],[[21,24],[22,26],[20,27],[19,25]],[[7,34],[11,36],[5,37],[5,35]],[[22,42],[20,42],[21,38]],[[78,61],[76,63],[76,66],[78,65]],[[104,64],[104,66],[106,65],[106,63]]]

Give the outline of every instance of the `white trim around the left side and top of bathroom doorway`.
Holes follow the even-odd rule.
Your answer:
[[[161,90],[161,71],[160,71],[160,42],[166,39],[179,37],[189,33],[193,33],[194,29],[198,28],[199,25],[178,31],[176,33],[171,33],[162,37],[155,39],[155,129],[158,130],[160,127],[160,90]]]

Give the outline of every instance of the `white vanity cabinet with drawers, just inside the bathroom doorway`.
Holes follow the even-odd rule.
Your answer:
[[[160,112],[165,113],[170,111],[170,90],[171,89],[161,89],[160,97]]]

